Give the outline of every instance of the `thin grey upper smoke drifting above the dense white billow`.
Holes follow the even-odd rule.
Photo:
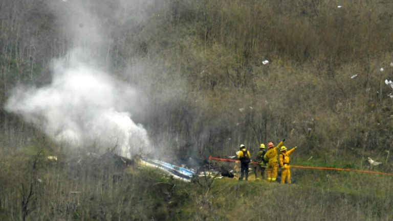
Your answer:
[[[72,47],[89,47],[105,55],[108,45],[124,29],[140,26],[148,19],[155,0],[47,0],[58,28]]]

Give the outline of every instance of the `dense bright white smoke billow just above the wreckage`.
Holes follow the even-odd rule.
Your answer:
[[[138,105],[138,92],[79,59],[76,51],[69,61],[55,61],[50,85],[15,88],[6,110],[71,146],[94,145],[99,152],[115,148],[128,158],[149,151],[146,130],[125,110]]]

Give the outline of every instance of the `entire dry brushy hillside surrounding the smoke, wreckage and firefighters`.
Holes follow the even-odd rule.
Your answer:
[[[43,3],[0,3],[7,6],[0,7],[2,105],[18,83],[46,84],[49,61],[69,49]],[[160,144],[158,152],[231,156],[239,143],[255,151],[260,142],[287,138],[304,163],[310,156],[320,165],[364,167],[367,156],[385,161],[393,130],[391,88],[383,83],[393,73],[393,4],[170,0],[159,6],[140,27],[124,22],[121,31],[111,30],[111,59],[102,62],[149,94],[135,117]],[[0,122],[0,220],[23,219],[30,185],[26,220],[392,219],[390,178],[298,171],[292,186],[226,180],[207,192],[149,171],[129,175],[41,158],[33,167],[42,146],[64,153],[15,115],[1,111]],[[381,170],[391,172],[387,160]]]

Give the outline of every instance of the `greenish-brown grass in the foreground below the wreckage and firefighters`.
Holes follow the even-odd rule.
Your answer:
[[[392,178],[292,169],[293,185],[215,180],[182,183],[154,171],[93,160],[3,160],[2,220],[21,220],[21,184],[33,186],[26,220],[390,220]],[[7,172],[7,173],[6,173]],[[39,180],[38,180],[39,179]],[[239,212],[241,211],[241,212]]]

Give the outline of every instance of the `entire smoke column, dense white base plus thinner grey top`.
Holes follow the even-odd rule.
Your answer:
[[[139,15],[143,10],[129,5],[129,1],[69,0],[48,4],[72,48],[63,58],[53,59],[49,85],[14,88],[5,109],[73,148],[93,148],[99,153],[111,149],[128,158],[150,152],[147,131],[132,119],[132,110],[142,102],[140,92],[103,71],[102,64],[97,65],[100,58],[107,56],[102,48],[111,41],[110,33],[116,31],[105,31],[103,27],[121,23],[129,15],[126,10]],[[140,23],[142,17],[135,20]]]

